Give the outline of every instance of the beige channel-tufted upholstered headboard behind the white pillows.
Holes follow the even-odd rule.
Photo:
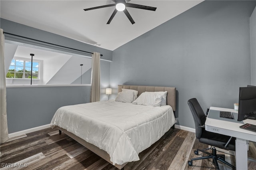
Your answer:
[[[140,85],[118,85],[118,93],[122,89],[132,89],[138,91],[138,96],[145,91],[167,91],[167,105],[176,111],[176,87],[140,86]]]

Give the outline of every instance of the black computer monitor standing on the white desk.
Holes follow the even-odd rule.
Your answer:
[[[256,119],[256,87],[240,87],[238,120]]]

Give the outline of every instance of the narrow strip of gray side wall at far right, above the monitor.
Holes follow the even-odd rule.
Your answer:
[[[256,85],[256,8],[250,17],[252,85]]]

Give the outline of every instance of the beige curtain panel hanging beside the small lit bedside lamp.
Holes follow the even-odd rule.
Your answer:
[[[100,53],[92,54],[92,77],[91,77],[90,102],[100,101]]]

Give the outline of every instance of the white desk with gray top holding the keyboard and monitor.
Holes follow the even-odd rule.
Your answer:
[[[233,113],[234,119],[220,117],[220,111],[229,111]],[[240,128],[245,123],[256,125],[256,120],[246,119],[238,122],[238,111],[220,107],[210,107],[205,121],[205,130],[219,134],[225,134],[236,138],[236,169],[247,170],[247,150],[248,141],[256,142],[256,132]]]

